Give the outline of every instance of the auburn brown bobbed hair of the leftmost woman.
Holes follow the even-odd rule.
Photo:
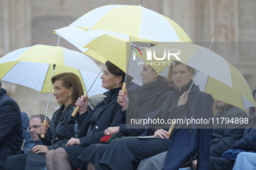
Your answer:
[[[56,80],[62,80],[62,86],[66,89],[73,88],[72,106],[75,106],[76,100],[84,95],[83,86],[79,77],[74,73],[61,73],[52,77],[52,83]],[[63,103],[61,103],[62,105]]]

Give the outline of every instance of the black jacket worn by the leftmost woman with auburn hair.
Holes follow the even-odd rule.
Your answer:
[[[78,124],[71,114],[74,111],[71,104],[65,109],[62,105],[58,110],[52,115],[52,121],[50,128],[47,129],[45,138],[39,138],[42,143],[47,146],[49,150],[59,148],[59,145],[66,145],[70,138],[76,138],[79,132]]]

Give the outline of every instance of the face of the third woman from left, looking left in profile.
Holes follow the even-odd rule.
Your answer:
[[[156,71],[150,69],[150,66],[146,64],[143,65],[143,69],[139,75],[142,76],[143,85],[152,83],[153,81],[157,80]]]

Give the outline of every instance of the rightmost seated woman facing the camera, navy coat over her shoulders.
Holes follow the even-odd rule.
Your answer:
[[[150,112],[146,118],[202,117],[204,119],[213,116],[211,95],[201,92],[195,85],[187,95],[194,72],[193,68],[175,61],[175,65],[169,69],[169,77],[172,77],[178,90],[171,93],[163,106]],[[143,136],[153,135],[160,138],[117,138],[104,152],[99,163],[100,167],[104,170],[136,170],[140,160],[168,150],[165,160],[166,170],[178,170],[189,154],[194,157],[196,153],[198,153],[198,169],[205,170],[209,162],[212,129],[199,129],[197,125],[196,127],[197,129],[186,124],[178,124],[170,138],[169,132],[160,128],[146,129],[143,134]]]

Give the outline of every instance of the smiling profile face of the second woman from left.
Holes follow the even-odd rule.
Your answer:
[[[102,79],[101,86],[107,90],[122,86],[122,76],[111,74],[106,66],[103,68],[103,74],[100,76],[100,78]],[[117,82],[119,84],[117,84]]]

